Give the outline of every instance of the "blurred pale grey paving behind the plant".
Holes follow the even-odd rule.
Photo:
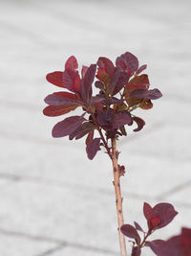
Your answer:
[[[53,139],[63,117],[42,114],[45,96],[59,91],[46,74],[71,55],[89,65],[128,51],[148,64],[163,98],[138,112],[144,129],[118,144],[125,222],[146,227],[143,202],[170,202],[179,215],[153,239],[190,227],[190,8],[189,0],[0,1],[0,255],[119,255],[108,156],[90,161],[83,140]]]

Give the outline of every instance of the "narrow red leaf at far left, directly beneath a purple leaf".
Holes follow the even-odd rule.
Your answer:
[[[74,110],[78,105],[48,105],[43,109],[46,116],[60,116]]]

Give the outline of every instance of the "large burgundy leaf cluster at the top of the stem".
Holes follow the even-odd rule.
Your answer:
[[[117,57],[116,65],[109,58],[99,57],[96,64],[82,66],[80,72],[76,58],[68,58],[63,71],[55,71],[46,77],[64,91],[45,98],[47,106],[43,113],[54,117],[81,107],[83,117],[74,115],[57,123],[53,127],[53,137],[69,136],[72,140],[86,135],[86,151],[90,159],[100,147],[110,153],[110,147],[106,146],[108,139],[126,136],[126,126],[132,126],[134,122],[138,126],[134,131],[144,127],[145,122],[132,111],[138,107],[149,109],[153,106],[151,101],[161,97],[159,89],[149,89],[148,76],[139,75],[145,69],[145,64],[138,67],[138,58],[129,52]],[[96,95],[93,95],[93,86]],[[96,139],[95,132],[98,133]]]

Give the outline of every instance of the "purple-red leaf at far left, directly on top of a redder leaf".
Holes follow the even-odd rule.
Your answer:
[[[45,98],[48,105],[79,105],[78,98],[70,92],[54,92]]]

